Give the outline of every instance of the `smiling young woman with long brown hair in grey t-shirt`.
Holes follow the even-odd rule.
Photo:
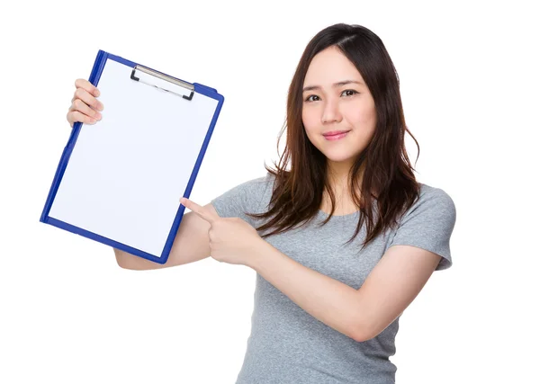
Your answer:
[[[78,79],[67,121],[99,120],[98,95]],[[181,201],[192,211],[165,265],[115,249],[118,263],[163,268],[210,255],[257,271],[238,384],[393,383],[399,318],[452,264],[455,205],[415,180],[399,78],[374,32],[337,24],[309,42],[286,128],[265,177],[203,207]]]

